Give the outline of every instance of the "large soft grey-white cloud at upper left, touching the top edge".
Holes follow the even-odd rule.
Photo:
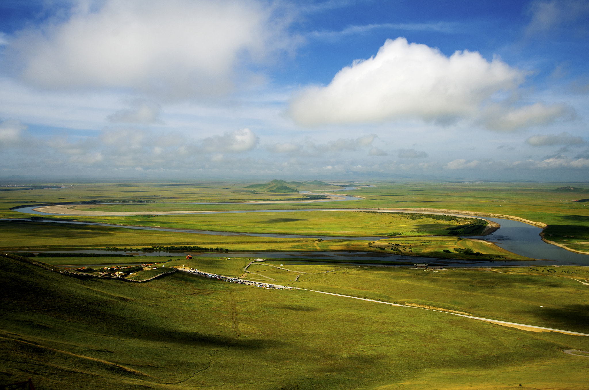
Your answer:
[[[275,8],[257,0],[78,0],[65,20],[18,32],[6,53],[37,87],[218,95],[231,89],[234,71],[292,44]]]

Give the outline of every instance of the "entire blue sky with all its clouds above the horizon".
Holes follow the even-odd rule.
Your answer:
[[[0,4],[0,177],[589,180],[589,1]]]

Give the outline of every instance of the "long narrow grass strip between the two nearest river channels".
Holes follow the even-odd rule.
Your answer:
[[[350,213],[351,214],[351,213]],[[368,214],[373,215],[373,214]],[[377,214],[378,215],[378,214]],[[123,227],[52,224],[46,222],[1,222],[0,234],[2,247],[0,249],[19,250],[68,250],[68,249],[108,249],[109,247],[150,247],[154,245],[204,245],[206,247],[223,247],[232,251],[323,251],[323,250],[366,250],[369,252],[383,252],[392,255],[431,256],[449,259],[499,259],[501,260],[530,260],[528,257],[507,252],[494,244],[477,241],[462,240],[455,236],[446,237],[399,237],[368,242],[366,240],[340,239],[318,241],[309,239],[283,239],[271,237],[248,236],[213,236],[210,234],[193,234],[177,232],[157,232],[153,230],[134,230]],[[392,246],[391,244],[398,244]],[[398,248],[398,251],[393,250]],[[455,248],[472,249],[485,256],[468,255],[455,252]],[[451,250],[451,253],[442,250]],[[165,259],[165,257],[163,257]],[[44,257],[44,261],[56,261],[59,264],[73,264],[74,257]],[[81,257],[75,264],[91,264],[99,257]],[[115,257],[102,263],[112,263]],[[148,261],[137,257],[122,257],[123,262]],[[152,260],[154,261],[154,260]]]

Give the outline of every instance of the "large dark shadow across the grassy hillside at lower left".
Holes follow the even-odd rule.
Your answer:
[[[47,339],[62,337],[61,332],[56,333],[50,326],[42,325],[45,322],[65,324],[65,328],[73,333],[117,335],[122,339],[182,343],[194,347],[231,344],[242,349],[269,349],[284,344],[273,339],[236,339],[233,332],[222,325],[213,332],[183,330],[185,324],[181,318],[163,316],[174,315],[173,309],[145,305],[151,298],[161,298],[153,296],[147,286],[116,280],[64,277],[6,257],[0,257],[0,269],[4,279],[0,285],[3,296],[0,322],[7,326],[12,323],[9,327],[16,326],[24,335],[41,332]],[[206,291],[210,286],[196,287]],[[208,315],[204,311],[194,314]]]

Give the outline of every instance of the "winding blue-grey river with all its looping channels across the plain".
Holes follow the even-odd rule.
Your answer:
[[[337,191],[351,191],[356,189],[355,187],[345,187],[341,190]],[[307,191],[302,191],[301,193],[310,194]],[[327,194],[319,194],[313,193],[317,195],[327,195]],[[359,197],[355,196],[341,196],[344,199],[340,199],[339,201],[345,200],[361,200]],[[317,201],[336,201],[336,200],[317,200]],[[315,201],[305,201],[305,203],[315,203]],[[203,203],[194,203],[194,204],[203,204]],[[206,204],[226,204],[223,202],[220,203],[209,203]],[[251,204],[251,203],[249,203]],[[289,203],[293,204],[293,203]],[[68,205],[70,206],[70,205]],[[71,204],[71,206],[78,206],[76,204]],[[33,209],[37,209],[39,206],[27,206],[27,207],[19,207],[18,209],[14,209],[15,211],[20,211],[21,213],[27,214],[38,214],[38,215],[51,215],[51,216],[64,216],[64,214],[52,214],[52,213],[43,213],[41,211],[34,211]],[[284,209],[284,210],[239,210],[239,211],[207,211],[207,212],[195,212],[194,214],[228,214],[228,213],[283,213],[283,212],[305,212],[305,211],[380,211],[380,212],[392,212],[392,213],[418,213],[418,214],[444,214],[444,215],[451,215],[451,216],[459,216],[465,218],[473,218],[473,216],[463,215],[463,214],[454,214],[454,213],[433,213],[433,212],[424,212],[424,211],[411,211],[411,210],[398,210],[398,211],[389,211],[389,210],[378,210],[378,209],[358,209],[358,210],[350,210],[350,209]],[[154,214],[157,214],[157,211],[154,211]],[[180,215],[185,215],[188,213],[183,213]],[[80,216],[80,214],[76,214],[76,216]],[[492,242],[497,244],[497,246],[502,247],[509,252],[517,253],[521,256],[531,257],[532,259],[538,259],[531,262],[502,262],[498,260],[489,261],[489,260],[454,260],[454,259],[436,259],[434,257],[418,257],[418,256],[404,256],[404,255],[391,255],[389,253],[378,253],[378,252],[229,252],[225,253],[224,257],[268,257],[268,258],[282,258],[282,259],[313,259],[313,260],[322,260],[325,263],[330,262],[337,262],[337,261],[345,261],[349,262],[350,260],[359,260],[363,263],[366,260],[373,259],[375,260],[375,264],[381,262],[398,262],[398,263],[407,263],[413,264],[416,262],[426,262],[430,265],[463,265],[463,266],[527,266],[527,265],[583,265],[589,266],[589,255],[583,255],[582,253],[575,253],[570,252],[569,250],[563,249],[561,247],[545,243],[542,241],[540,237],[540,233],[542,229],[540,227],[532,226],[527,223],[519,222],[519,221],[512,221],[509,219],[501,219],[501,218],[489,218],[489,217],[477,217],[479,219],[489,220],[492,222],[496,222],[501,225],[501,227],[495,231],[494,233],[488,234],[487,236],[472,236],[472,237],[464,237],[464,238],[474,238],[474,239],[481,239],[486,240],[488,242]],[[35,220],[35,222],[39,222]],[[118,225],[118,224],[108,224],[108,223],[97,223],[97,222],[74,222],[74,221],[55,221],[55,220],[45,220],[43,222],[46,223],[68,223],[68,224],[85,224],[85,225],[97,225],[97,226],[112,226],[112,227],[124,227],[126,229],[137,229],[137,230],[159,230],[163,232],[181,232],[181,233],[197,233],[197,234],[213,234],[217,236],[254,236],[254,237],[281,237],[281,238],[313,238],[313,239],[323,239],[323,240],[379,240],[383,238],[391,238],[391,237],[340,237],[340,236],[312,236],[307,234],[266,234],[266,233],[235,233],[235,232],[213,232],[209,230],[196,230],[196,229],[165,229],[159,227],[143,227],[143,226],[125,226],[125,225]],[[424,237],[425,238],[425,237]],[[94,250],[78,250],[75,251],[77,253],[86,252],[86,253],[120,253],[121,255],[126,252],[120,251],[94,251]],[[181,253],[167,253],[167,252],[153,252],[153,253],[132,253],[133,255],[151,255],[151,256],[179,256],[183,255]],[[203,253],[202,256],[220,256],[220,253]],[[382,264],[382,263],[381,263]]]

